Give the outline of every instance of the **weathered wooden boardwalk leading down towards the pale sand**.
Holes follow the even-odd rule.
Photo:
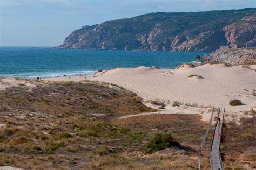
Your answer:
[[[223,163],[220,156],[220,138],[221,138],[221,130],[223,126],[223,117],[224,117],[225,109],[224,111],[219,112],[219,117],[221,119],[220,125],[216,122],[215,129],[214,129],[214,136],[212,138],[212,144],[211,144],[211,151],[210,151],[210,161],[211,161],[211,169],[224,169]],[[220,136],[218,137],[218,132],[220,133]]]

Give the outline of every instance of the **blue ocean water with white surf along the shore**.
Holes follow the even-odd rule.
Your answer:
[[[175,68],[203,52],[57,50],[51,47],[0,47],[0,77],[33,78],[90,75],[116,67]]]

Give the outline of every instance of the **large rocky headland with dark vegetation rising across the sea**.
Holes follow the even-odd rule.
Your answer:
[[[83,26],[56,49],[215,51],[221,45],[254,45],[256,9],[150,13]]]

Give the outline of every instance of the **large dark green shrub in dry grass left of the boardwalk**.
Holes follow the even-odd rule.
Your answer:
[[[165,148],[171,146],[179,146],[179,143],[174,141],[174,138],[170,133],[157,133],[154,138],[147,144],[147,148],[149,149],[150,153],[164,150]]]

